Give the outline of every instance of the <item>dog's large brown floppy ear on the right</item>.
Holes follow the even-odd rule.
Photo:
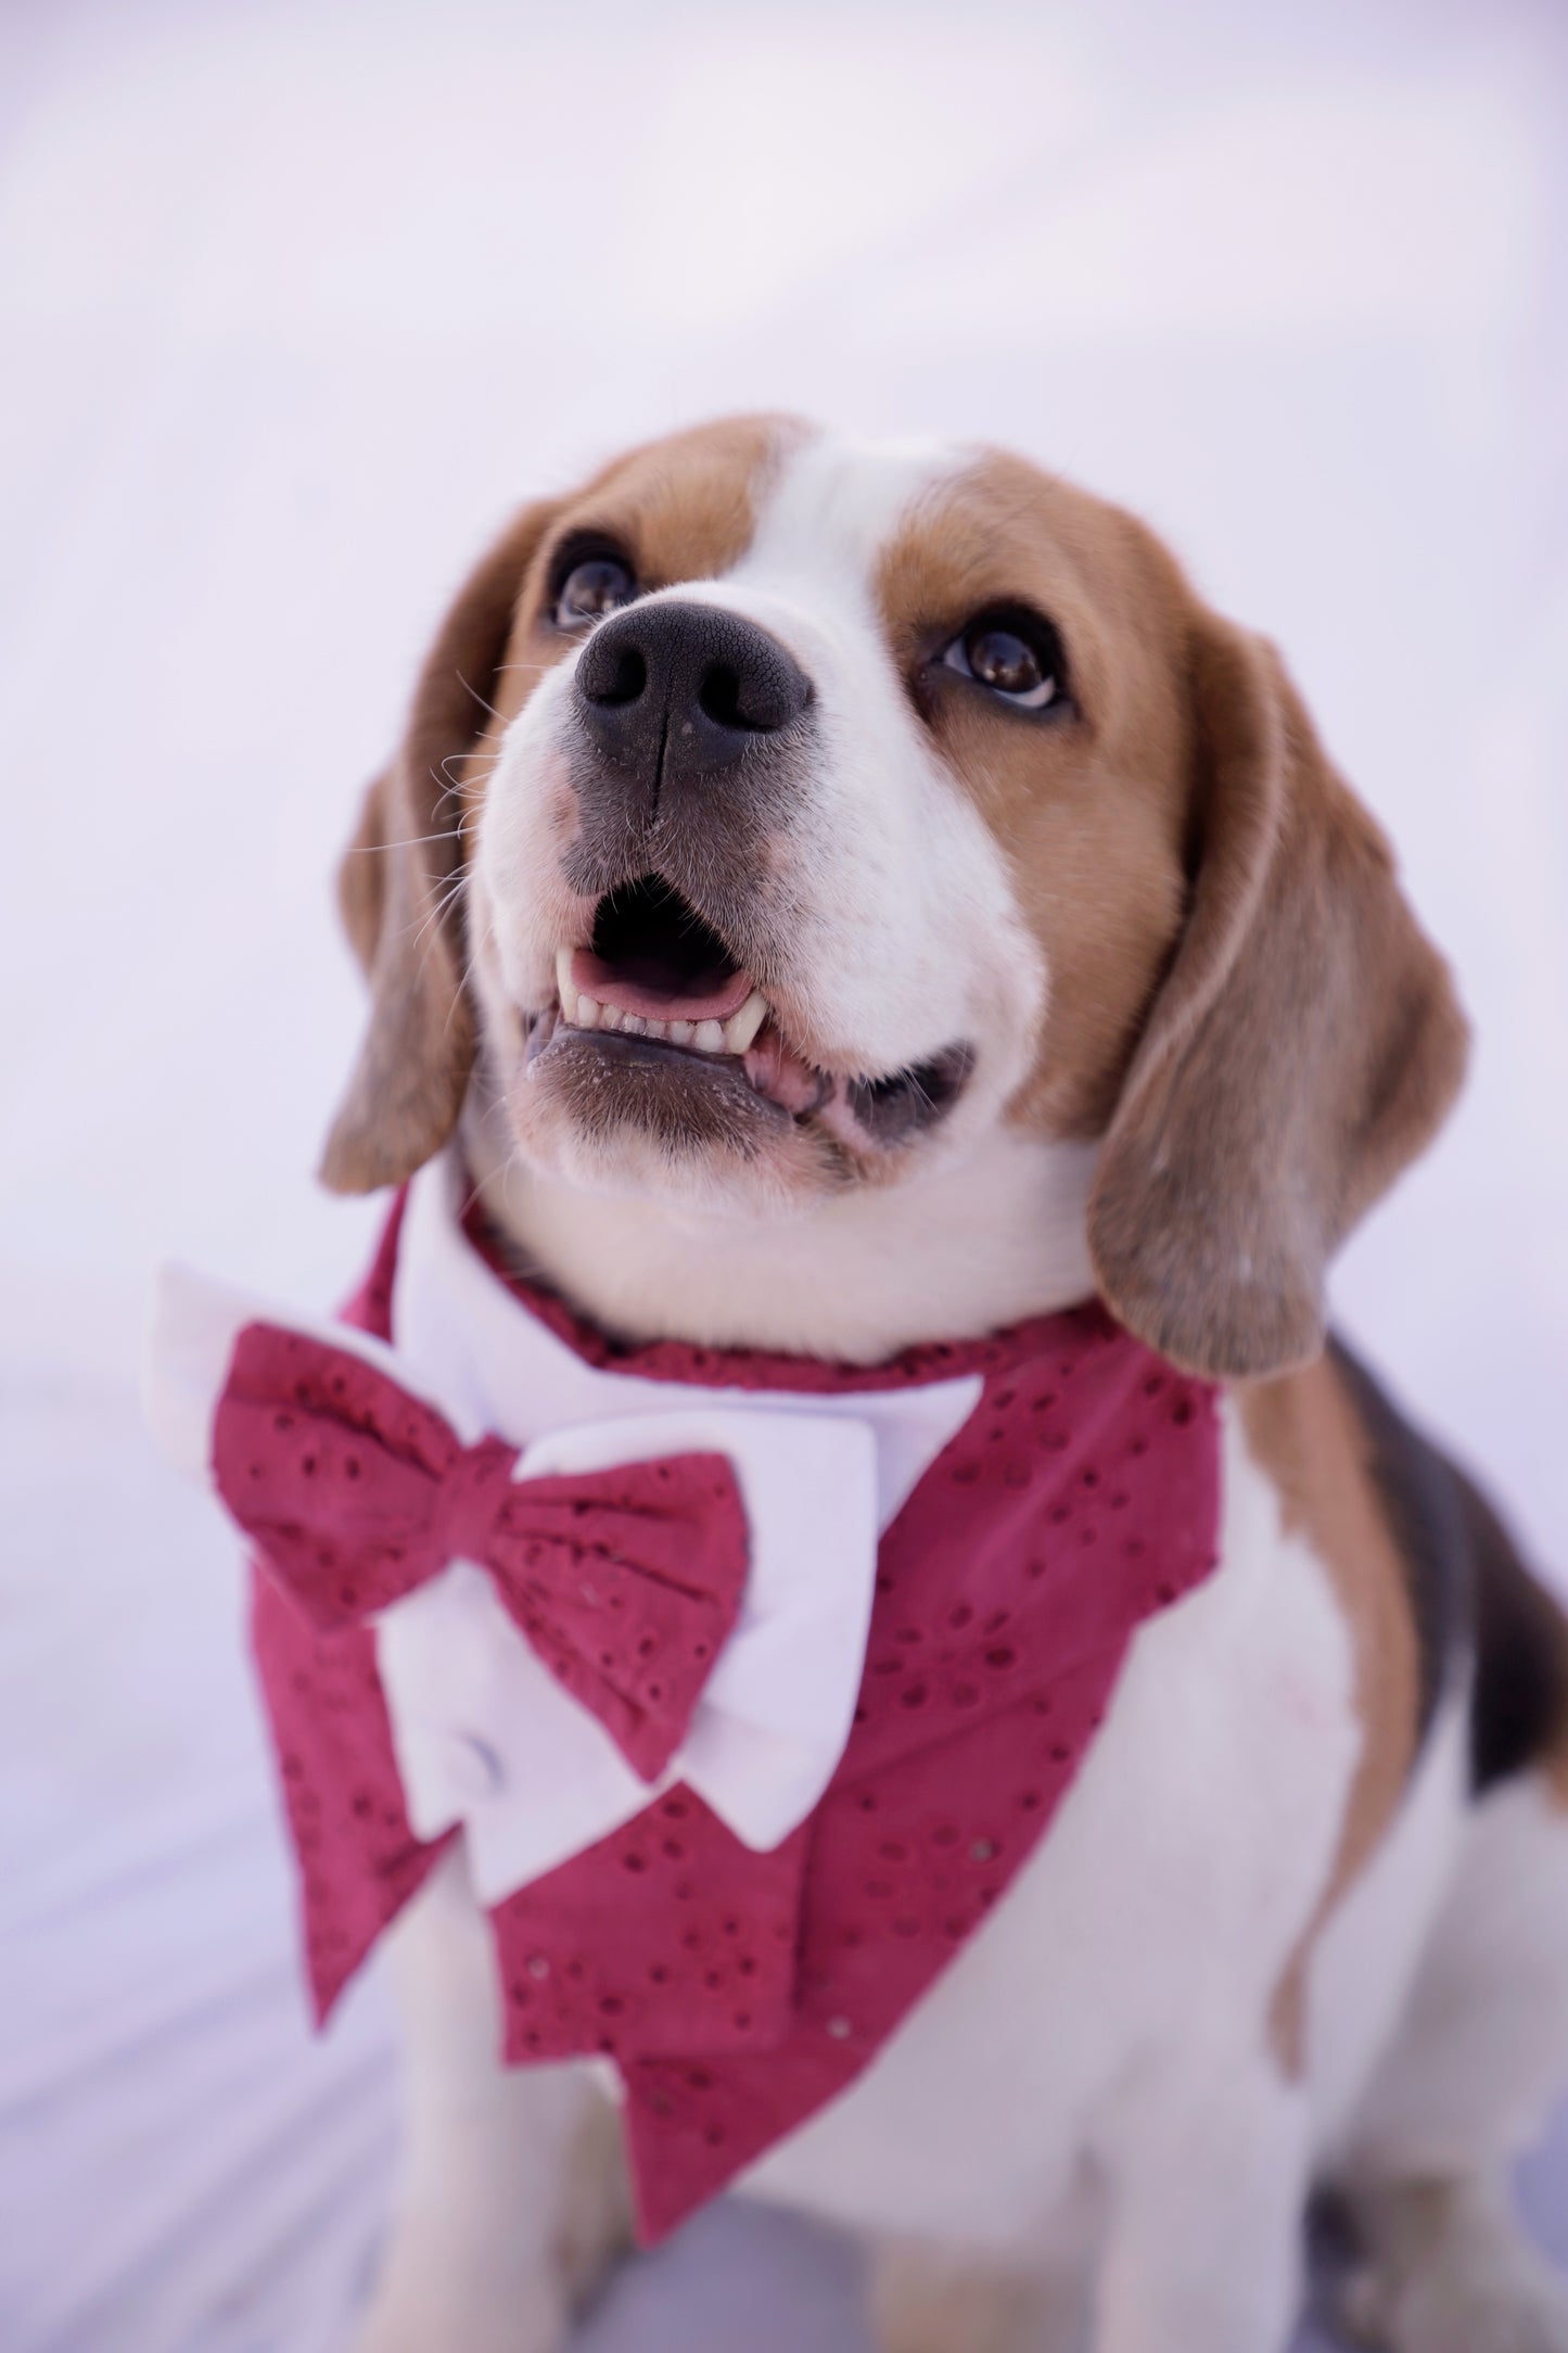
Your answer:
[[[1439,1127],[1465,1071],[1448,969],[1279,656],[1194,619],[1192,901],[1105,1134],[1105,1299],[1211,1377],[1324,1341],[1335,1245]]]

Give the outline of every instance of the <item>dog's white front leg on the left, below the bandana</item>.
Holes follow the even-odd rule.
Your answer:
[[[404,2146],[355,2353],[552,2353],[625,2231],[614,2118],[581,2068],[503,2068],[489,1929],[449,1854],[393,1934]]]

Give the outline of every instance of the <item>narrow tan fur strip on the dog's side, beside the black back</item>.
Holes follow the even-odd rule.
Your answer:
[[[1331,1360],[1241,1386],[1237,1400],[1248,1449],[1279,1489],[1286,1527],[1324,1560],[1345,1612],[1363,1734],[1324,1899],[1274,1995],[1274,2049],[1298,2073],[1312,1944],[1382,1842],[1415,1762],[1420,1645],[1408,1572],[1373,1485],[1371,1442]]]

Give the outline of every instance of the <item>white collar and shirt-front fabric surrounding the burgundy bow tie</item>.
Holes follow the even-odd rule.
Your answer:
[[[661,1454],[729,1457],[750,1529],[741,1617],[661,1788],[686,1781],[750,1847],[813,1809],[853,1720],[877,1541],[969,1421],[980,1377],[797,1393],[654,1381],[581,1358],[461,1228],[454,1158],[421,1169],[397,1245],[393,1348],[172,1271],[160,1292],[150,1417],[176,1459],[209,1466],[209,1419],[235,1334],[315,1329],[433,1402],[463,1442],[522,1449],[515,1478]],[[508,1617],[489,1574],[454,1560],[381,1612],[376,1654],[409,1821],[461,1826],[482,1904],[597,1845],[656,1795]]]

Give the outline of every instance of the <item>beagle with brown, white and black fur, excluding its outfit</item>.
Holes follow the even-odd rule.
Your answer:
[[[461,1158],[616,1344],[870,1367],[1098,1297],[1215,1384],[1218,1567],[738,2188],[863,2235],[884,2353],[1269,2353],[1324,2188],[1366,2341],[1568,2353],[1507,2195],[1568,2080],[1568,1631],[1324,1322],[1467,1033],[1274,649],[1016,456],[703,426],[482,558],[341,904],[324,1181]],[[461,1861],[395,1944],[362,2353],[548,2353],[625,2238],[614,2108],[501,2066]]]

